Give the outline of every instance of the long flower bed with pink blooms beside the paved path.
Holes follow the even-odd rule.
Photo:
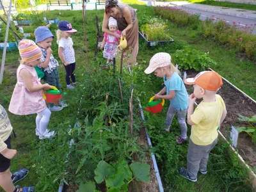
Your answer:
[[[240,28],[239,23],[228,24],[225,20],[207,19],[204,22],[199,19],[200,15],[191,15],[189,12],[177,8],[156,7],[156,13],[164,19],[170,19],[180,26],[192,26],[200,29],[200,34],[205,38],[217,40],[221,45],[235,47],[238,52],[244,52],[248,58],[256,57],[256,36],[252,31],[256,24]]]

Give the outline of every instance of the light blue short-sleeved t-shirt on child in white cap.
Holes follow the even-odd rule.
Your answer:
[[[188,92],[179,74],[174,72],[170,79],[166,79],[166,76],[164,76],[164,84],[166,86],[166,95],[170,91],[175,91],[174,98],[170,99],[170,105],[177,110],[188,109]]]

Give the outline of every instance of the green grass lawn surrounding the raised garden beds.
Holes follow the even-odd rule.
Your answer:
[[[136,2],[134,1],[134,4]],[[143,5],[132,5],[138,9],[138,15],[146,14],[154,16],[153,8]],[[106,61],[102,58],[102,52],[99,52],[97,63],[93,64],[93,55],[96,42],[95,15],[99,15],[99,22],[102,23],[103,10],[86,11],[86,33],[88,38],[88,49],[90,56],[90,65],[99,67]],[[52,11],[49,12],[49,17],[59,17],[60,20],[68,20],[72,27],[77,29],[74,34],[74,49],[76,51],[77,60],[77,81],[84,81],[86,76],[86,51],[83,41],[83,19],[82,13],[79,11]],[[139,17],[140,19],[140,17]],[[242,60],[232,49],[228,47],[220,47],[211,40],[206,40],[197,35],[196,31],[189,28],[177,28],[175,24],[169,23],[172,29],[172,37],[175,40],[173,44],[146,47],[145,43],[140,40],[140,52],[138,55],[138,67],[134,67],[131,79],[134,84],[134,95],[141,99],[142,104],[146,104],[150,95],[158,92],[161,89],[162,79],[150,75],[146,76],[143,72],[148,65],[148,61],[156,52],[170,52],[173,54],[177,49],[182,49],[184,46],[199,49],[201,51],[210,51],[209,56],[216,60],[219,64],[214,70],[220,72],[221,75],[227,77],[228,80],[236,84],[240,88],[255,98],[255,89],[248,82],[255,82],[253,71],[255,65],[251,61]],[[51,30],[54,33],[56,26],[52,25]],[[55,58],[58,58],[58,46],[56,38],[52,45],[52,50]],[[1,52],[2,53],[2,52]],[[12,96],[13,86],[16,83],[14,74],[17,66],[19,66],[19,52],[7,52],[6,68],[4,71],[4,81],[0,87],[1,97],[0,103],[5,109],[8,109],[8,104]],[[223,64],[224,63],[224,64]],[[65,70],[62,65],[59,67],[61,83],[65,86]],[[106,76],[109,74],[106,73]],[[103,77],[102,77],[103,79]],[[243,82],[242,82],[243,80]],[[99,82],[101,80],[99,79]],[[108,85],[108,83],[106,83]],[[84,84],[81,86],[88,87]],[[249,88],[250,87],[250,88]],[[251,91],[250,91],[251,89]],[[65,89],[64,89],[65,90]],[[79,87],[83,90],[83,87]],[[37,191],[57,191],[60,178],[63,177],[65,171],[65,160],[68,152],[67,130],[69,126],[73,127],[76,121],[76,111],[79,106],[81,93],[68,92],[68,101],[70,106],[59,112],[52,112],[49,127],[58,131],[59,136],[54,140],[40,141],[35,136],[35,115],[16,116],[9,113],[10,121],[13,129],[17,133],[17,138],[13,138],[12,145],[19,152],[17,157],[12,161],[11,169],[18,170],[26,167],[29,169],[29,175],[26,179],[19,182],[20,186],[36,186]],[[90,103],[91,98],[84,98],[84,103]],[[179,125],[177,120],[173,121],[174,131],[171,134],[163,132],[164,119],[166,117],[166,109],[168,102],[164,106],[164,111],[151,115],[145,113],[147,127],[150,130],[150,137],[154,143],[157,161],[161,171],[165,191],[252,191],[250,181],[247,177],[246,170],[243,170],[238,163],[237,157],[230,152],[225,142],[221,141],[212,151],[209,161],[209,174],[206,176],[199,175],[198,182],[191,183],[182,179],[177,168],[186,166],[186,152],[188,145],[175,145],[175,139],[179,135]],[[136,108],[134,108],[135,110]],[[81,109],[83,114],[86,108]],[[84,118],[85,116],[83,116]],[[174,128],[175,127],[175,128]],[[189,130],[190,131],[190,130]],[[188,132],[189,135],[189,132]],[[73,157],[74,159],[76,157]],[[77,159],[78,161],[79,159]],[[76,162],[77,163],[77,162]],[[64,175],[65,176],[65,175]],[[73,175],[75,178],[76,175]],[[72,175],[70,175],[72,177]],[[69,181],[69,183],[76,183]]]

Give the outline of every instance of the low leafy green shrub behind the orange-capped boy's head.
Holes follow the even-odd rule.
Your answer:
[[[207,67],[216,65],[216,62],[211,60],[205,52],[197,51],[196,49],[181,49],[177,50],[172,55],[173,63],[178,64],[180,69],[188,70],[193,68],[197,71],[205,70]]]

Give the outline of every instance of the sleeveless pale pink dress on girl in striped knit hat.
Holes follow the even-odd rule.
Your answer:
[[[17,69],[17,84],[12,93],[9,111],[15,115],[29,115],[43,111],[47,106],[43,97],[43,91],[29,92],[24,86],[20,70],[26,68],[31,76],[33,84],[41,84],[34,67],[20,64]]]

